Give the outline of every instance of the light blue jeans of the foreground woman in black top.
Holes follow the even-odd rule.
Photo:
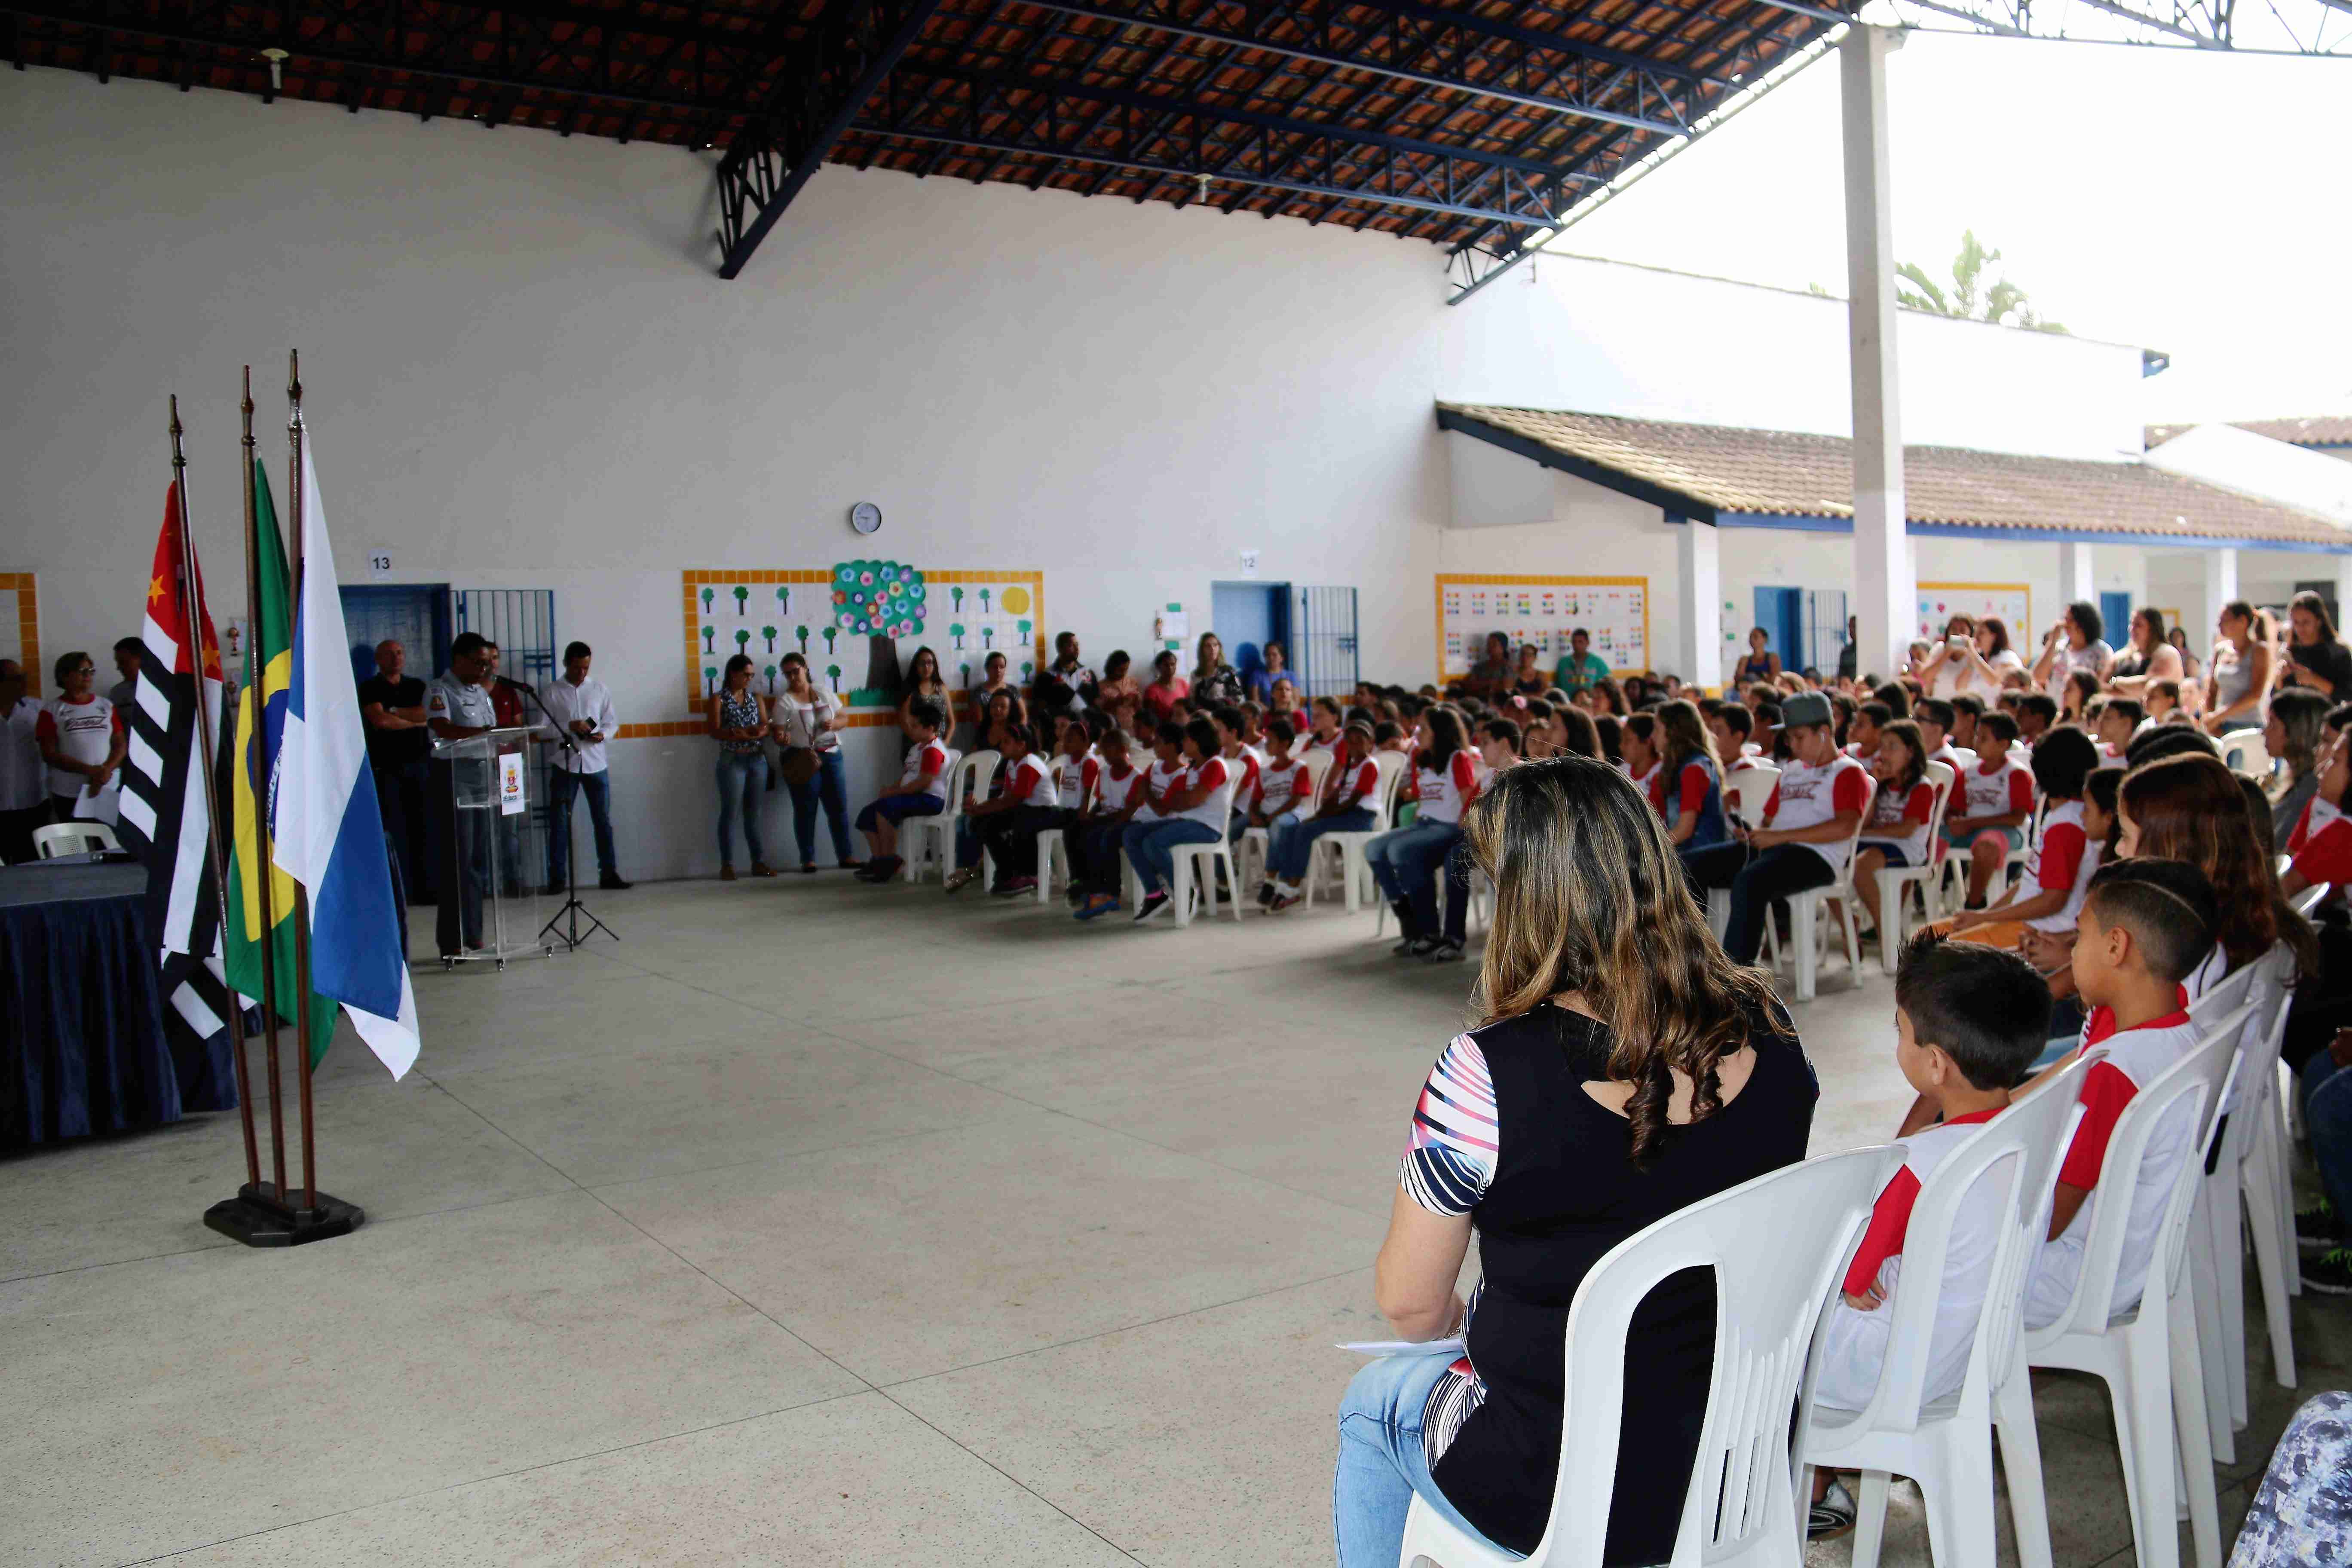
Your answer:
[[[1449,1366],[1454,1352],[1381,1356],[1341,1396],[1338,1469],[1331,1476],[1338,1568],[1395,1568],[1414,1497],[1470,1540],[1486,1540],[1437,1490],[1421,1450],[1421,1408]]]

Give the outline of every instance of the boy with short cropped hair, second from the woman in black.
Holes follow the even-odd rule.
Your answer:
[[[2091,1009],[2077,1056],[2105,1051],[2105,1058],[2082,1084],[2084,1117],[2058,1166],[2049,1241],[2025,1286],[2027,1328],[2056,1324],[2072,1305],[2091,1234],[2084,1208],[2103,1187],[2131,1206],[2114,1309],[2136,1307],[2147,1286],[2164,1204],[2180,1161],[2194,1157],[2199,1126],[2178,1107],[2147,1143],[2138,1171],[2103,1171],[2103,1164],[2131,1098],[2197,1046],[2180,983],[2213,943],[2213,884],[2187,860],[2114,860],[2091,877],[2074,936],[2074,990]]]

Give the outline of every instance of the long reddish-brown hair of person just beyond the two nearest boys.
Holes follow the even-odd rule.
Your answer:
[[[2270,837],[2256,835],[2237,773],[2220,757],[2180,752],[2136,766],[2114,799],[2117,853],[2187,860],[2213,884],[2220,945],[2187,978],[2194,1001],[2216,980],[2286,940],[2303,973],[2319,966],[2310,924],[2279,893]]]

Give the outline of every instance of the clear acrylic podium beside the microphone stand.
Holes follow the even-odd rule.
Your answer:
[[[459,900],[463,940],[442,954],[442,966],[553,952],[541,933],[546,912],[541,884],[548,872],[546,811],[534,799],[534,726],[485,729],[463,741],[435,741],[433,762],[447,764],[452,844],[445,870],[456,886],[440,898]],[[445,877],[447,882],[447,877]]]

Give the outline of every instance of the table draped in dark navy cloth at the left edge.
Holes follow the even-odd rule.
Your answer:
[[[0,1150],[233,1110],[226,1030],[165,1034],[139,865],[0,867]]]

